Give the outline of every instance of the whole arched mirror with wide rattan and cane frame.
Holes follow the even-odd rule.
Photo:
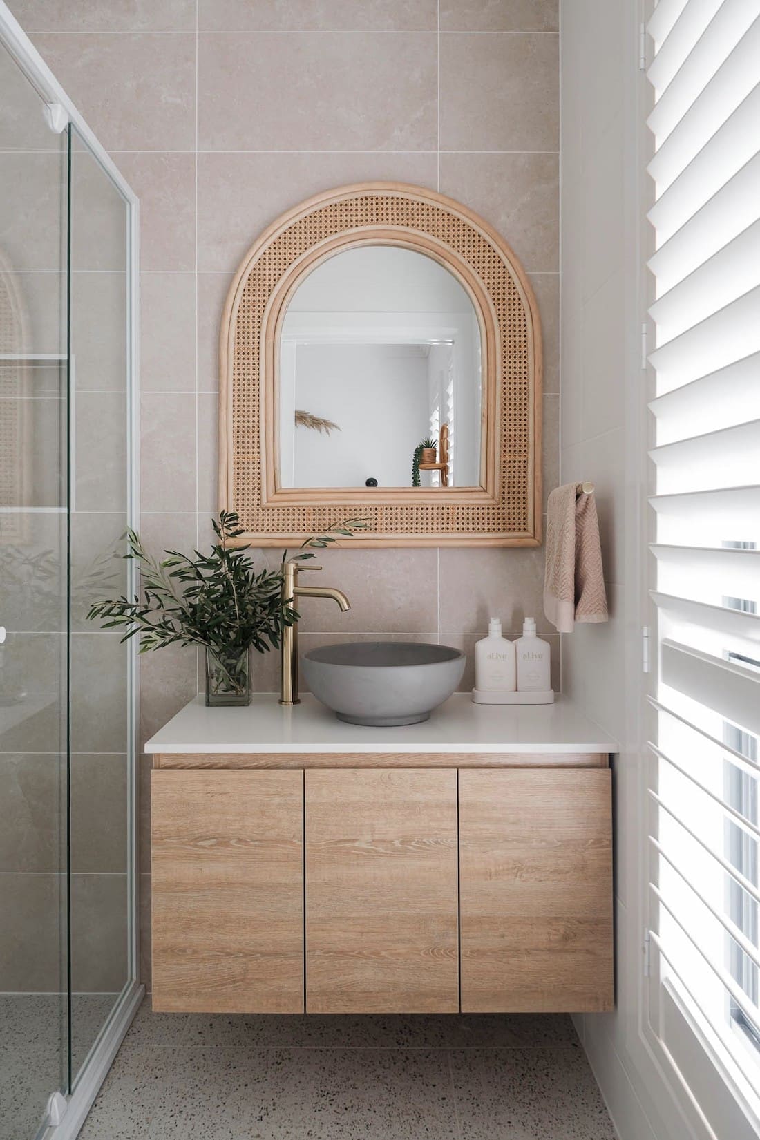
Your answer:
[[[245,540],[363,516],[353,545],[540,543],[538,309],[461,204],[392,182],[310,198],[246,254],[220,340],[220,506]]]

